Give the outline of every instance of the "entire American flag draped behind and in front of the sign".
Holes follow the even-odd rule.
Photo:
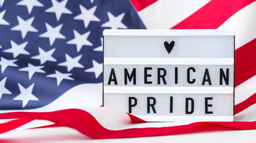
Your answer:
[[[252,0],[0,0],[0,6],[0,137],[7,141],[41,128],[68,127],[91,138],[256,129],[248,122],[256,121]],[[88,108],[102,101],[105,28],[234,30],[236,122],[144,123],[115,109]]]

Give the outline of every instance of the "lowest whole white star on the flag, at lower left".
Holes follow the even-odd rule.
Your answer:
[[[25,89],[21,84],[18,83],[18,88],[20,94],[13,98],[13,100],[22,100],[22,107],[24,108],[28,102],[31,101],[38,101],[39,99],[32,94],[34,84],[31,84],[27,89]]]

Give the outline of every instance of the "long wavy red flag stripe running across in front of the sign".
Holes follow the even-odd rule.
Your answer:
[[[76,129],[79,132],[91,138],[144,137],[157,135],[198,133],[208,131],[256,129],[256,122],[197,122],[188,125],[173,127],[151,127],[131,128],[123,130],[108,130],[102,127],[89,112],[80,109],[66,109],[54,112],[9,112],[0,114],[1,119],[10,119],[14,117],[27,117],[29,119],[49,120],[56,124]],[[10,124],[8,126],[2,126],[5,126],[7,128],[9,127],[9,130],[13,129],[13,126]],[[0,128],[0,132],[2,132],[1,130],[3,129]]]

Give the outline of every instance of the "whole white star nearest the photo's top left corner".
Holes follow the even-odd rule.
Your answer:
[[[24,20],[21,17],[17,16],[18,25],[11,28],[13,31],[20,31],[22,33],[22,38],[24,39],[28,32],[38,32],[31,24],[35,17],[31,17],[28,20]]]

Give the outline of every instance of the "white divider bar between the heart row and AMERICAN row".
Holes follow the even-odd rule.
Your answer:
[[[233,58],[104,58],[104,65],[233,65]]]

